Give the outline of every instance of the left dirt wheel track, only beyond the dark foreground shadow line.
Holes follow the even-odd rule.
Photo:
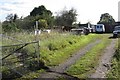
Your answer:
[[[78,51],[76,54],[73,54],[69,59],[67,59],[64,63],[59,64],[59,66],[51,68],[51,71],[53,72],[59,72],[64,73],[64,71],[73,65],[78,59],[80,59],[83,55],[85,55],[86,52],[88,52],[93,46],[98,44],[101,40],[97,40],[94,43],[90,43],[85,48]]]

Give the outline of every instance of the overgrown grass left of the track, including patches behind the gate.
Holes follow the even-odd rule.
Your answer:
[[[35,35],[33,33],[24,32],[12,33],[7,35],[15,38],[16,40],[3,38],[2,45],[12,45],[21,43],[17,40],[22,40],[23,43],[35,41]],[[40,60],[42,60],[47,66],[58,65],[64,62],[77,50],[83,48],[88,43],[93,42],[96,39],[100,39],[102,37],[102,35],[97,34],[89,34],[87,36],[71,35],[69,33],[41,34],[37,37],[37,40],[40,40]],[[27,53],[35,54],[34,46],[29,45],[25,49]],[[38,75],[38,73],[31,72],[28,73],[26,77],[29,77],[31,74],[33,74],[33,76],[31,76],[33,78]]]

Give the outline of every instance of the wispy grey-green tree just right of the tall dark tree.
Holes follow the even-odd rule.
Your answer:
[[[76,21],[76,10],[71,8],[70,10],[63,10],[56,16],[55,23],[58,26],[65,26],[67,29],[72,27],[73,22]]]

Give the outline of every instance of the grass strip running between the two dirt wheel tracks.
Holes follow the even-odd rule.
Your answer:
[[[99,58],[109,43],[110,40],[103,38],[102,42],[94,46],[66,72],[78,78],[87,78],[90,73],[95,71]]]

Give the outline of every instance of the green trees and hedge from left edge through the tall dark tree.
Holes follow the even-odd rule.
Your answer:
[[[39,27],[41,28],[52,28],[54,24],[54,17],[52,12],[47,10],[43,5],[38,8],[34,8],[30,15],[25,18],[18,18],[17,14],[9,14],[6,17],[6,21],[2,23],[4,32],[21,31],[35,29],[35,22],[39,21]]]

